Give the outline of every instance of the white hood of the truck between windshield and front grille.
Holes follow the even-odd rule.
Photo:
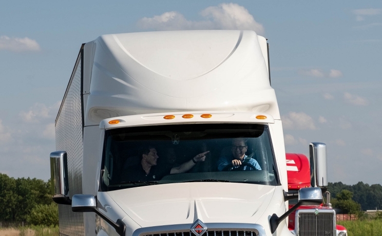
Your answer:
[[[169,224],[255,223],[275,186],[246,183],[176,183],[107,192],[141,227]]]

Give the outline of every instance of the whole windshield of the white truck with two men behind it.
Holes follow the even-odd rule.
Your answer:
[[[179,124],[106,131],[101,190],[181,182],[277,185],[268,126]]]

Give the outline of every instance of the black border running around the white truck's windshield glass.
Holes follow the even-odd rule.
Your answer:
[[[280,179],[279,179],[279,170],[278,170],[278,165],[277,165],[277,158],[276,158],[276,155],[275,155],[275,151],[274,151],[274,146],[273,146],[273,142],[272,142],[272,135],[271,135],[271,129],[269,128],[269,125],[268,124],[264,124],[264,123],[197,123],[197,124],[211,124],[211,125],[259,125],[259,126],[263,126],[264,127],[264,132],[267,132],[268,133],[268,138],[269,138],[269,143],[270,143],[270,149],[271,149],[271,153],[272,153],[272,158],[273,158],[273,172],[274,172],[274,184],[271,184],[273,186],[279,186],[281,185],[281,182],[280,182]],[[103,175],[104,175],[104,172],[105,172],[105,159],[106,159],[106,145],[107,145],[107,138],[110,136],[110,133],[112,132],[115,132],[115,130],[132,130],[132,131],[139,131],[139,132],[145,132],[147,130],[150,130],[152,129],[153,127],[156,128],[157,126],[181,126],[181,125],[192,125],[192,124],[187,124],[187,123],[179,123],[179,124],[165,124],[165,125],[143,125],[143,126],[129,126],[129,127],[118,127],[118,128],[113,128],[113,129],[107,129],[104,131],[104,140],[103,140],[103,149],[102,149],[102,161],[101,161],[101,171],[100,171],[100,176],[99,176],[99,191],[112,191],[112,190],[119,190],[119,189],[126,189],[126,188],[131,188],[131,187],[139,187],[139,186],[147,186],[147,185],[154,185],[154,184],[158,184],[157,181],[139,181],[136,185],[137,186],[130,186],[130,187],[122,187],[122,186],[119,186],[119,187],[116,187],[114,189],[110,189],[110,186],[105,186],[104,185],[104,182],[103,182]],[[184,174],[189,174],[189,173],[184,173]],[[171,176],[173,175],[177,175],[177,174],[171,174]],[[160,180],[162,181],[162,180]],[[163,182],[163,181],[162,181]],[[230,182],[230,181],[225,181],[225,180],[216,180],[216,179],[200,179],[200,180],[192,180],[192,181],[182,181],[182,182],[179,182],[179,183],[189,183],[189,182]],[[263,184],[263,183],[255,183],[255,182],[235,182],[235,181],[232,181],[233,183],[251,183],[251,184]],[[174,183],[174,182],[171,182],[171,183]],[[161,183],[161,184],[165,184],[165,183]],[[120,184],[122,185],[122,184]],[[268,185],[268,184],[264,184],[264,185]]]

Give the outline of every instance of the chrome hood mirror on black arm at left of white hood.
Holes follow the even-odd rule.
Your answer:
[[[126,225],[121,219],[118,219],[117,222],[113,222],[110,218],[105,216],[101,211],[97,209],[97,200],[93,195],[83,195],[76,194],[72,198],[72,211],[73,212],[94,212],[98,214],[102,219],[104,219],[109,225],[111,225],[116,232],[125,236]]]

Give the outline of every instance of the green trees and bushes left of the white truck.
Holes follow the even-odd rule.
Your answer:
[[[58,225],[58,206],[50,189],[50,181],[14,179],[0,173],[0,221]]]

